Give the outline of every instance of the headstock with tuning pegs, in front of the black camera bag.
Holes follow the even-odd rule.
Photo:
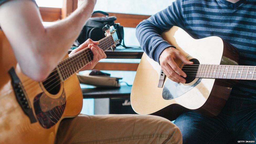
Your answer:
[[[103,31],[105,31],[105,36],[112,36],[113,40],[114,40],[114,44],[111,46],[111,50],[114,51],[114,49],[116,48],[116,45],[119,44],[119,38],[116,34],[116,29],[114,28],[114,26],[109,26],[108,24],[106,26],[103,27],[102,29]]]

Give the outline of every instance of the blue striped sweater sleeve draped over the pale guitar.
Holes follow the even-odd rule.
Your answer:
[[[162,51],[171,46],[162,39],[161,33],[174,25],[183,29],[185,27],[181,6],[182,0],[176,0],[171,6],[143,20],[136,27],[136,36],[142,50],[158,63]]]

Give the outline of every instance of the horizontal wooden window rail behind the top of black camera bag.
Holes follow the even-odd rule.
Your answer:
[[[102,17],[103,14],[96,13],[92,17]],[[122,14],[122,13],[109,13],[109,16],[115,16],[117,19],[115,23],[120,23],[124,27],[136,28],[136,26],[150,15],[137,15],[137,14]]]

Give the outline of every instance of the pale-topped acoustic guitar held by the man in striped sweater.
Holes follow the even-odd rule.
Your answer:
[[[192,110],[216,116],[233,84],[239,79],[256,79],[255,66],[238,66],[238,50],[220,37],[193,39],[177,26],[165,31],[162,37],[194,64],[175,60],[187,74],[186,83],[176,83],[166,78],[160,65],[144,53],[131,91],[131,105],[138,114],[175,120]]]

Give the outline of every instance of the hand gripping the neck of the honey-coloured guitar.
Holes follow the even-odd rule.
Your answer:
[[[99,44],[98,41],[93,41],[91,39],[88,39],[69,54],[69,56],[72,56],[76,52],[81,51],[82,49],[86,48],[87,46],[89,47],[90,50],[92,50],[93,60],[90,61],[89,64],[84,66],[80,71],[92,70],[95,67],[95,65],[99,62],[99,60],[107,57],[105,52],[97,46],[98,44]]]

